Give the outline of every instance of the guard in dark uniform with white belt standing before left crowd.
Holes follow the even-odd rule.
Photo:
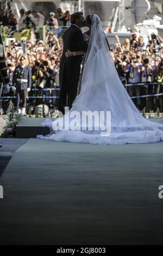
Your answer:
[[[22,114],[26,113],[26,97],[27,92],[30,91],[31,83],[32,71],[30,66],[26,65],[26,57],[21,57],[20,64],[14,70],[12,85],[16,88],[16,106],[21,108]]]

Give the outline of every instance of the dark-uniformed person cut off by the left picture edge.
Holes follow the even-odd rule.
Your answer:
[[[3,43],[2,37],[0,35],[0,97],[2,93],[6,94],[9,93],[10,86],[9,86],[9,76],[7,71],[7,65],[5,64],[4,59],[4,51],[3,51]],[[2,145],[0,145],[2,147]]]

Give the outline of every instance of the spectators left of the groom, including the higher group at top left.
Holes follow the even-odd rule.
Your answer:
[[[46,90],[46,88],[55,88],[59,86],[59,64],[62,51],[61,34],[54,33],[54,29],[58,27],[70,26],[70,12],[67,10],[62,12],[61,8],[49,13],[47,19],[41,12],[36,10],[24,11],[20,9],[20,17],[16,19],[12,12],[0,11],[0,26],[5,26],[9,37],[11,38],[15,32],[22,32],[23,29],[33,29],[34,38],[28,40],[24,44],[20,41],[9,42],[5,46],[5,59],[7,60],[8,71],[10,75],[10,93],[5,96],[16,95],[16,85],[14,84],[13,74],[18,66],[21,66],[22,56],[26,59],[26,65],[32,70],[32,87],[28,90],[28,105],[39,105],[45,103],[49,108],[57,106],[55,96],[59,95],[59,91]],[[39,38],[39,28],[48,25],[50,29],[46,31],[46,39],[43,42]],[[44,90],[42,90],[44,89]],[[50,96],[50,98],[48,98]],[[54,97],[53,97],[54,96]],[[35,98],[34,98],[35,97]],[[43,99],[43,97],[45,97]],[[0,100],[0,112],[2,113],[2,105],[5,108],[11,100]],[[12,100],[12,104],[16,106],[16,99]],[[5,111],[6,109],[4,109]]]

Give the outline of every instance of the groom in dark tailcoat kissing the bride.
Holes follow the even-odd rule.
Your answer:
[[[66,29],[63,35],[64,48],[60,62],[59,70],[59,84],[60,84],[60,98],[59,111],[64,114],[64,107],[66,106],[68,96],[68,107],[72,107],[72,103],[77,95],[78,81],[80,75],[80,65],[82,62],[82,55],[65,57],[65,52],[86,51],[87,44],[83,39],[81,27],[84,26],[84,16],[82,12],[77,12],[71,15],[71,26]],[[74,53],[75,54],[75,53]]]

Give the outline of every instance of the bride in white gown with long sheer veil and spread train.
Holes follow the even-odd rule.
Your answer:
[[[42,125],[48,126],[51,133],[37,138],[53,139],[91,144],[126,144],[154,143],[163,141],[163,124],[154,123],[142,117],[126,89],[118,77],[114,62],[110,56],[108,44],[101,26],[101,20],[96,14],[91,15],[91,35],[84,61],[80,94],[73,102],[70,111],[61,118],[51,121],[46,119]],[[90,130],[89,125],[82,127],[81,120],[76,118],[78,130],[65,129],[71,113],[78,111],[111,112],[111,132],[102,136],[103,127]],[[61,121],[62,130],[54,127]],[[93,126],[96,127],[96,121]]]

